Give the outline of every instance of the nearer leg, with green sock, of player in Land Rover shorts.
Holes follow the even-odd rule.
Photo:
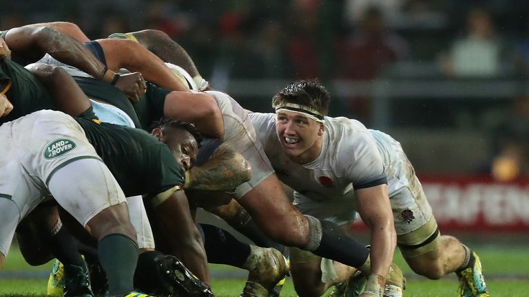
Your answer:
[[[98,239],[109,292],[132,291],[138,259],[136,232],[123,191],[110,170],[97,159],[78,159],[56,170],[48,188],[59,205]]]

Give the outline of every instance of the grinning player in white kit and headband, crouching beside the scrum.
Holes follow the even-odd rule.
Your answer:
[[[302,80],[273,97],[275,114],[249,115],[278,177],[295,190],[298,209],[340,225],[353,221],[359,212],[371,230],[372,262],[378,256],[388,263],[393,256],[395,231],[387,228],[393,228],[394,220],[397,245],[414,272],[431,279],[456,272],[461,296],[488,296],[478,256],[455,237],[439,234],[400,144],[357,120],[325,116],[329,100],[322,85]],[[383,173],[387,186],[376,178]],[[324,262],[293,251],[296,289],[313,286],[314,276],[307,271],[320,273]]]

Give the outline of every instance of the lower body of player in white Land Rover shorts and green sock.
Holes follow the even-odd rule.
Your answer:
[[[129,294],[136,233],[123,191],[81,126],[59,111],[37,111],[2,124],[0,138],[0,267],[18,223],[49,193],[98,239],[112,296]]]

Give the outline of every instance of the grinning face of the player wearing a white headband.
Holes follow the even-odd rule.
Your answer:
[[[276,115],[276,131],[285,155],[294,162],[313,161],[322,149],[323,124],[291,111]]]

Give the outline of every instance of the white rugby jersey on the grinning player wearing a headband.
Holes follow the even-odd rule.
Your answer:
[[[346,223],[355,218],[355,189],[386,184],[382,156],[391,152],[379,151],[382,132],[373,137],[357,120],[325,117],[322,152],[313,162],[297,164],[282,151],[275,113],[251,113],[249,118],[279,179],[295,190],[294,203],[304,214]]]

